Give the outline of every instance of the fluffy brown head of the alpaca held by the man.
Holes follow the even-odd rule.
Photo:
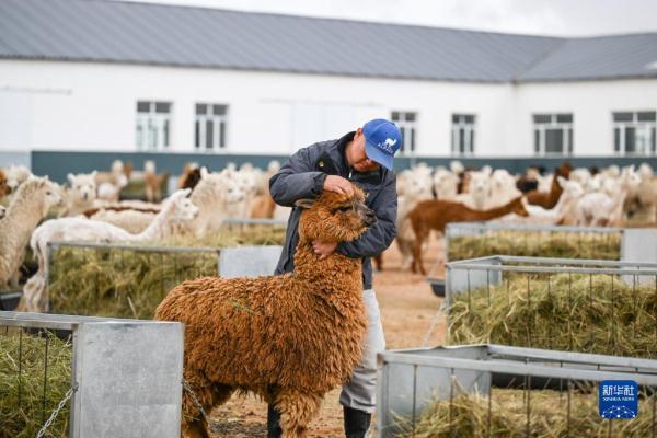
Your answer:
[[[377,222],[374,212],[365,205],[365,193],[353,185],[354,195],[324,192],[316,199],[299,199],[302,208],[299,235],[322,242],[348,242]]]

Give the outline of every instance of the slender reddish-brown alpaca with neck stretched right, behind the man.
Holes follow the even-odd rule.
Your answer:
[[[429,238],[431,230],[445,233],[445,227],[451,222],[472,222],[481,220],[489,220],[515,212],[520,216],[529,216],[522,205],[522,197],[517,197],[510,203],[492,208],[489,210],[473,210],[460,203],[449,200],[423,200],[411,212],[411,226],[415,232],[415,244],[413,246],[413,264],[411,269],[414,273],[419,272],[426,275],[424,264],[422,262],[422,245]]]

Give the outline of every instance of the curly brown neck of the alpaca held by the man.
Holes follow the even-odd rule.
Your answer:
[[[344,292],[349,286],[361,291],[362,262],[337,252],[320,260],[312,249],[312,241],[299,239],[295,253],[295,277],[312,283],[316,290],[331,293]]]

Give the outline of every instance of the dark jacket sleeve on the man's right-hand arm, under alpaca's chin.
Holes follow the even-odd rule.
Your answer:
[[[388,178],[385,186],[377,195],[371,207],[377,216],[377,223],[370,227],[360,238],[337,245],[337,252],[347,257],[373,257],[392,243],[396,235],[396,177]]]

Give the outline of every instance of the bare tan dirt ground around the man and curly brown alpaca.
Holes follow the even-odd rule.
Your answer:
[[[434,241],[426,252],[427,268],[441,254],[441,242]],[[442,277],[437,266],[435,277]],[[445,342],[445,319],[439,315],[441,299],[434,296],[426,278],[401,269],[396,244],[383,254],[383,269],[374,275],[374,290],[381,309],[388,349],[435,346]],[[344,437],[339,389],[328,393],[320,416],[311,424],[309,437]],[[214,438],[266,436],[267,405],[253,396],[233,396],[211,414]]]

